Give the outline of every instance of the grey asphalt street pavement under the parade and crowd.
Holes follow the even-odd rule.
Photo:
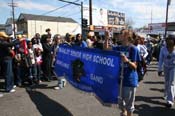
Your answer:
[[[2,92],[0,116],[120,116],[117,106],[104,106],[93,95],[70,84],[54,90],[56,84],[57,81],[42,82],[32,91],[17,87],[15,93]],[[137,89],[134,116],[175,116],[175,106],[165,107],[163,87],[163,77],[157,76],[157,63],[153,62]]]

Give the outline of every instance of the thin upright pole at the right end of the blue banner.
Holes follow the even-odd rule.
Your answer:
[[[122,104],[122,89],[123,89],[123,74],[124,74],[124,62],[122,61],[122,65],[121,65],[121,73],[120,73],[120,88],[119,88],[119,96],[118,96],[118,104],[119,107]]]

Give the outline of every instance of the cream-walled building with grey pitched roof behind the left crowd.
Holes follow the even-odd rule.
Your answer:
[[[28,38],[32,38],[36,33],[46,33],[47,28],[51,29],[52,35],[81,33],[81,26],[75,20],[64,17],[20,14],[17,25],[18,32],[26,34]]]

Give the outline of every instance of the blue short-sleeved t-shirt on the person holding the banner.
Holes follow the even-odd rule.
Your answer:
[[[139,51],[135,46],[117,46],[114,50],[124,53],[127,58],[132,62],[140,61]],[[123,86],[126,87],[137,87],[138,85],[138,74],[137,70],[129,67],[128,63],[124,63],[123,73]]]

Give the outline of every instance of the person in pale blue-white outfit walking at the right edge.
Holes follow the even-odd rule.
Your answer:
[[[164,69],[164,70],[163,70]],[[164,71],[166,106],[171,108],[175,100],[175,36],[169,35],[166,46],[162,47],[159,55],[158,75]]]

